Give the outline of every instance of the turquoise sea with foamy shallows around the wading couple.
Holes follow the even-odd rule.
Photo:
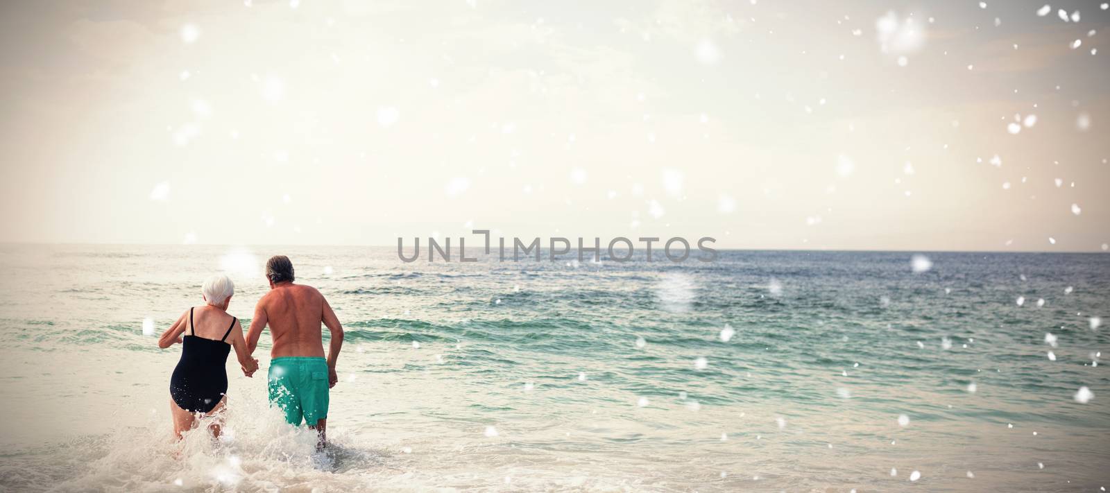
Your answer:
[[[276,253],[347,331],[335,446],[313,454],[231,365],[231,437],[174,444],[180,346],[157,334],[221,270],[245,324]],[[0,247],[0,489],[1107,485],[1110,338],[1092,318],[1110,315],[1110,256],[925,255],[915,273],[895,252],[406,264],[369,248]]]

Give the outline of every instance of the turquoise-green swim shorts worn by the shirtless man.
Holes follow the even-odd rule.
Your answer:
[[[311,426],[327,417],[327,362],[319,356],[282,356],[270,361],[270,404],[289,424]]]

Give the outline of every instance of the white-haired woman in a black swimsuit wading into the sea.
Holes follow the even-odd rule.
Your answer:
[[[226,405],[226,364],[232,348],[243,374],[251,376],[259,369],[259,360],[246,351],[243,326],[228,314],[234,292],[235,285],[226,275],[209,278],[201,288],[205,304],[182,313],[158,340],[162,349],[182,344],[181,360],[170,379],[170,414],[178,439],[195,425],[198,417],[216,414]],[[219,422],[212,423],[211,430],[213,436],[220,436]]]

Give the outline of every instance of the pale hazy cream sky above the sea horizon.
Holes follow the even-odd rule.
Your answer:
[[[1042,6],[8,1],[0,242],[1104,251],[1110,10]]]

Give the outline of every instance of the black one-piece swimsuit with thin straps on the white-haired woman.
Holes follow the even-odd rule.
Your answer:
[[[193,326],[193,309],[189,309],[189,328],[192,334],[184,336],[181,360],[170,378],[170,396],[181,409],[193,413],[206,413],[215,409],[228,392],[228,354],[231,344],[224,342],[235,326],[231,326],[219,341],[196,336]]]

